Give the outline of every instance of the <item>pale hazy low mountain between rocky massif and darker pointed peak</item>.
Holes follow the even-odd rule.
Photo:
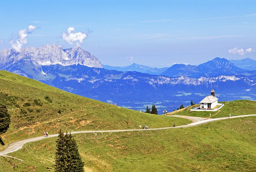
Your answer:
[[[159,75],[160,73],[164,72],[168,67],[166,68],[152,68],[144,65],[139,65],[136,63],[133,63],[130,66],[124,66],[124,67],[117,67],[117,66],[109,66],[109,65],[103,65],[104,69],[108,70],[118,70],[118,71],[136,71],[136,72],[141,72],[141,73],[147,73],[147,74],[152,74],[152,75]]]

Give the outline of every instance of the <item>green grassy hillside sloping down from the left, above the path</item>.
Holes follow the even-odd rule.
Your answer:
[[[11,125],[1,135],[5,145],[43,132],[58,133],[79,130],[139,129],[170,127],[189,124],[189,120],[113,106],[97,100],[70,94],[41,82],[6,71],[0,71],[0,104],[6,104],[11,114]],[[58,113],[60,110],[61,113]],[[129,117],[128,124],[126,123]]]

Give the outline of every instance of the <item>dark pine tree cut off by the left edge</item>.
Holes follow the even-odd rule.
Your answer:
[[[0,135],[7,132],[11,122],[11,115],[6,109],[6,105],[0,105]]]

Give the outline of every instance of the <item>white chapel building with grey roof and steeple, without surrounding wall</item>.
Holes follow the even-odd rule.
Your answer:
[[[213,109],[218,104],[218,98],[215,97],[215,91],[211,90],[211,95],[206,96],[200,102],[200,109]]]

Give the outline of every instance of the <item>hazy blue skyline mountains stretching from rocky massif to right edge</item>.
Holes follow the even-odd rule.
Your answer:
[[[235,64],[233,63],[233,61]],[[202,63],[198,66],[175,64],[169,68],[168,67],[151,68],[148,66],[133,63],[130,66],[124,66],[124,67],[114,67],[109,65],[103,65],[103,68],[108,70],[118,70],[123,72],[136,71],[136,72],[147,73],[152,75],[165,75],[170,77],[189,76],[189,77],[197,78],[200,76],[207,77],[207,76],[216,76],[219,74],[252,75],[256,73],[256,60],[247,58],[243,60],[229,61],[224,58],[216,57],[215,59]],[[249,70],[254,70],[254,71],[251,72]]]

